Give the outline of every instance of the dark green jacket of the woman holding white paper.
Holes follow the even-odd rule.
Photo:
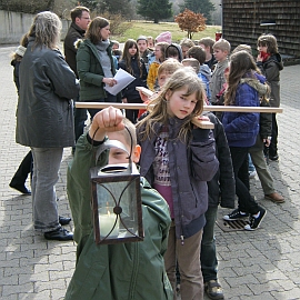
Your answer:
[[[108,47],[107,52],[111,61],[112,74],[116,74],[113,58],[111,54],[111,46]],[[98,100],[107,98],[104,90],[106,83],[102,82],[104,72],[96,46],[89,40],[79,40],[77,42],[77,71],[80,79],[80,101]],[[121,102],[121,96],[117,99]]]

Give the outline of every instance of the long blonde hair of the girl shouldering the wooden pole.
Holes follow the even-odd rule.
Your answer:
[[[178,139],[187,141],[188,134],[192,129],[191,119],[196,116],[201,114],[204,103],[204,91],[201,84],[201,80],[198,78],[192,68],[186,67],[177,70],[163,86],[161,93],[153,98],[148,110],[150,113],[142,119],[137,127],[143,127],[144,130],[141,132],[141,140],[151,139],[157,132],[154,132],[154,124],[157,122],[168,124],[168,101],[166,99],[167,92],[172,93],[183,87],[188,88],[186,96],[190,96],[196,92],[196,99],[198,100],[196,107],[190,116],[187,117],[183,122]]]

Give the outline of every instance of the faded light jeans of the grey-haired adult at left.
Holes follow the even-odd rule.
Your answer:
[[[41,232],[60,227],[56,183],[63,148],[31,148],[33,176],[31,183],[34,229]]]

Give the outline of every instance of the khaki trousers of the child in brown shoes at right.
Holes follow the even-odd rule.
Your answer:
[[[264,194],[274,192],[273,178],[266,162],[263,150],[258,150],[256,148],[250,148],[249,153],[251,156],[252,162],[256,167],[262,190]]]

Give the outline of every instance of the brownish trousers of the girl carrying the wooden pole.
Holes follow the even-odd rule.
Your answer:
[[[176,266],[180,272],[180,294],[182,300],[203,299],[203,278],[200,263],[202,230],[184,239],[184,244],[176,238],[176,227],[172,223],[169,231],[168,249],[164,253],[164,266],[168,278],[176,292]]]

